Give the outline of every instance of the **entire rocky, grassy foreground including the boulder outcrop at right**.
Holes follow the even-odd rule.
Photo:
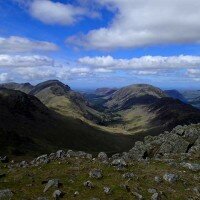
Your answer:
[[[110,158],[59,150],[0,160],[0,199],[200,199],[200,124],[147,136]]]

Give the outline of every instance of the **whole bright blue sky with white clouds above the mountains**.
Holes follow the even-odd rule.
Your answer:
[[[199,0],[0,0],[0,83],[200,89]]]

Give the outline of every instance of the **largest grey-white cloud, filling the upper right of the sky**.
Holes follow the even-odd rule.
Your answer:
[[[199,0],[101,0],[114,13],[106,27],[67,38],[66,43],[110,50],[200,42]]]

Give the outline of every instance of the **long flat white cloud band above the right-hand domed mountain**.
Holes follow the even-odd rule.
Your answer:
[[[143,56],[132,59],[115,59],[112,56],[83,57],[78,60],[81,65],[109,70],[139,70],[139,74],[147,74],[147,70],[174,70],[200,67],[200,56]],[[148,72],[149,74],[149,72]]]

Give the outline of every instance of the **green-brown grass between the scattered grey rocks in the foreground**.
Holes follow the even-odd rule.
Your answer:
[[[174,168],[160,161],[150,161],[150,164],[135,162],[124,172],[116,171],[115,168],[99,163],[98,161],[89,161],[85,159],[67,159],[65,161],[55,161],[39,167],[30,167],[24,169],[13,169],[9,171],[3,168],[2,172],[6,174],[5,178],[0,179],[0,189],[9,188],[14,192],[14,199],[37,199],[38,197],[48,197],[52,199],[52,193],[55,188],[50,188],[43,193],[44,185],[42,181],[59,178],[63,183],[60,188],[65,193],[63,199],[83,199],[89,200],[92,197],[101,200],[131,200],[136,199],[131,192],[127,192],[120,187],[121,184],[129,185],[131,191],[137,191],[142,194],[144,199],[150,199],[151,194],[147,192],[149,188],[155,188],[158,192],[163,192],[162,199],[188,199],[195,196],[193,188],[199,186],[194,176],[198,177],[198,172],[191,172],[183,168]],[[103,178],[93,180],[89,178],[89,171],[93,168],[100,168],[103,171]],[[133,180],[127,181],[122,178],[125,172],[133,172],[138,176]],[[166,172],[175,173],[180,176],[176,183],[167,183],[162,181],[156,183],[155,176],[162,177]],[[83,182],[91,180],[95,184],[94,189],[88,189],[83,186]],[[73,182],[72,182],[73,181]],[[17,183],[17,184],[16,184]],[[112,189],[111,195],[103,193],[103,187],[108,186]],[[73,196],[75,191],[79,191],[79,196]]]

